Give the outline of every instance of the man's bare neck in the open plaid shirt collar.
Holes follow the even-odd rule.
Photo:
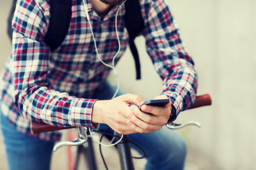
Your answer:
[[[93,10],[100,16],[104,17],[112,8],[109,4],[105,4],[100,0],[90,0]]]

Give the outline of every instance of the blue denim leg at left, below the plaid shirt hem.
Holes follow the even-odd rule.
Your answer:
[[[50,157],[54,142],[38,140],[18,132],[1,111],[0,115],[9,169],[50,169]]]

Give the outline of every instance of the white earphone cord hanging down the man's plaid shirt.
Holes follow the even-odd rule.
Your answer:
[[[101,62],[102,64],[104,64],[104,65],[107,66],[107,67],[110,67],[110,68],[113,70],[115,77],[117,78],[117,90],[114,92],[114,95],[112,96],[112,98],[114,98],[115,96],[117,96],[117,93],[118,93],[118,91],[119,91],[119,86],[120,86],[120,84],[119,84],[119,77],[118,77],[118,74],[117,74],[117,69],[114,67],[114,60],[116,59],[116,57],[118,56],[118,54],[119,54],[119,52],[120,52],[120,50],[121,50],[121,43],[120,43],[120,40],[119,40],[118,31],[117,31],[117,17],[118,17],[119,10],[120,10],[120,8],[123,6],[123,4],[124,4],[125,1],[123,1],[122,4],[120,4],[120,5],[118,6],[118,8],[117,8],[117,13],[116,13],[116,16],[115,16],[115,24],[114,24],[114,26],[115,26],[115,32],[116,32],[116,35],[117,35],[118,50],[117,50],[117,52],[115,53],[115,55],[114,55],[114,57],[113,57],[112,65],[105,63],[105,62],[100,58],[99,52],[98,52],[98,50],[97,50],[97,43],[96,43],[96,40],[95,40],[95,36],[94,36],[93,31],[92,31],[92,25],[91,25],[91,23],[90,23],[89,13],[88,13],[87,8],[86,8],[86,6],[85,6],[85,0],[82,0],[82,1],[83,1],[83,4],[84,4],[84,7],[85,7],[85,15],[86,15],[87,21],[88,21],[89,26],[90,26],[90,31],[91,31],[91,33],[92,33],[92,39],[93,39],[93,42],[94,42],[94,45],[95,45],[95,52],[96,52],[97,58],[100,60],[100,62]],[[97,143],[99,143],[100,145],[105,146],[105,147],[112,147],[112,146],[114,146],[114,145],[117,145],[119,142],[121,142],[121,140],[122,140],[122,138],[123,138],[123,136],[124,136],[124,135],[122,135],[122,136],[120,137],[120,139],[119,139],[117,142],[115,142],[114,144],[105,145],[105,144],[103,144],[102,142],[100,142],[99,140],[96,139],[96,137],[92,134],[92,130],[91,130],[90,128],[89,128],[89,132],[90,132],[90,136],[92,137],[93,140],[95,140]],[[116,134],[116,132],[114,132],[114,135],[115,135],[115,134]],[[110,141],[110,143],[114,142],[114,140],[115,140],[115,137],[112,138],[112,140]]]

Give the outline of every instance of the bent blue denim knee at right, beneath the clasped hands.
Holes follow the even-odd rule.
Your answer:
[[[181,170],[186,159],[186,142],[176,130],[164,126],[152,133],[129,135],[146,152],[146,169]],[[137,147],[138,152],[142,153]]]

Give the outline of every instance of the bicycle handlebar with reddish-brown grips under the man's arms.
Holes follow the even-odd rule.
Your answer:
[[[202,106],[210,106],[211,105],[211,98],[209,94],[203,94],[201,96],[196,97],[195,103],[188,108],[198,108]],[[69,128],[75,128],[75,127],[58,127],[58,126],[52,126],[48,125],[46,123],[38,123],[36,121],[31,121],[31,132],[32,134],[38,133],[38,132],[51,132],[55,130],[64,130],[64,129],[69,129]]]

